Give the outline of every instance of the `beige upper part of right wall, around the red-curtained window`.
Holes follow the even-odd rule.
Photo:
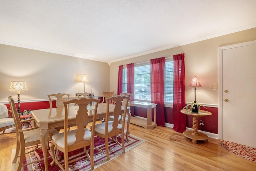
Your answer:
[[[210,89],[210,84],[218,83],[219,79],[218,47],[252,40],[256,40],[256,28],[112,63],[110,65],[110,90],[117,92],[119,65],[141,63],[154,58],[173,57],[173,55],[185,53],[186,102],[194,100],[194,91],[188,85],[192,77],[196,76],[202,85],[196,90],[197,102],[217,106],[218,89]]]

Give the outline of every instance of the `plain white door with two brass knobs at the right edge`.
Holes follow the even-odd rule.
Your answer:
[[[222,139],[256,147],[256,41],[220,49]]]

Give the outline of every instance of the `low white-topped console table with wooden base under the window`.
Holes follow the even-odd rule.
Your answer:
[[[146,120],[131,117],[131,124],[142,126],[145,129],[153,129],[156,127],[156,104],[155,103],[147,103],[147,102],[137,102],[131,101],[131,106],[147,108],[147,118]],[[154,108],[154,122],[152,122],[152,108]]]

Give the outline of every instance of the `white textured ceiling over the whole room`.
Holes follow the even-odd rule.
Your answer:
[[[256,0],[0,0],[0,43],[114,62],[256,27]]]

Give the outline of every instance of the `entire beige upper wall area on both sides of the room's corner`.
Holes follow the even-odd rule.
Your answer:
[[[83,92],[79,82],[81,74],[88,74],[86,91],[102,94],[102,90],[117,92],[118,66],[141,63],[158,57],[172,57],[185,53],[186,101],[194,100],[194,91],[188,87],[197,76],[202,87],[196,91],[196,100],[203,104],[218,105],[218,90],[210,89],[218,83],[218,47],[256,40],[256,28],[232,33],[180,47],[108,63],[58,55],[43,51],[0,44],[0,103],[7,102],[10,81],[26,81],[28,91],[21,92],[21,100],[44,100],[47,94],[56,92]],[[218,85],[219,86],[219,85]]]

